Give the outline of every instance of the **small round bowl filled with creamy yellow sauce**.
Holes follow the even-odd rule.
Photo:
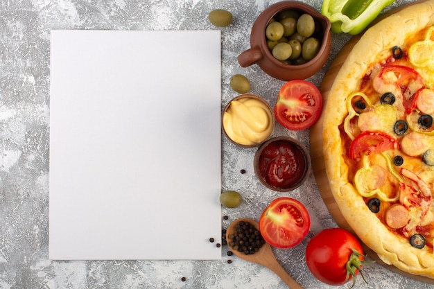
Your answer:
[[[249,102],[244,102],[245,100],[248,100]],[[244,135],[246,137],[250,137],[250,143],[243,143],[239,139],[236,139],[236,137],[231,134],[231,127],[226,128],[225,114],[233,113],[235,107],[234,101],[236,102],[236,104],[243,103],[243,108],[241,108],[243,111],[238,114],[242,114],[244,119],[250,118],[252,120],[252,123],[256,122],[257,125],[260,125],[263,128],[267,128],[265,132],[254,133],[248,130],[248,126],[243,124],[242,127],[246,129]],[[249,105],[250,108],[253,109],[245,111],[245,105]],[[234,121],[237,120],[234,119]],[[236,96],[236,98],[232,99],[231,101],[229,101],[229,103],[227,103],[222,114],[222,128],[223,132],[225,132],[227,139],[229,139],[229,141],[234,143],[236,146],[241,146],[242,148],[252,148],[255,146],[259,146],[261,143],[266,141],[266,139],[270,137],[273,130],[275,129],[275,122],[275,115],[270,104],[265,99],[254,94],[241,94],[240,96]],[[252,123],[250,123],[250,125],[252,125]]]

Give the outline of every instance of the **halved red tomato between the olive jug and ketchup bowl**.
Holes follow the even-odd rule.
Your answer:
[[[313,83],[290,80],[279,91],[275,105],[277,121],[288,130],[304,130],[318,120],[322,96]]]

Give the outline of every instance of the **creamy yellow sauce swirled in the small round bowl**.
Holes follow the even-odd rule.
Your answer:
[[[257,98],[232,100],[223,113],[223,128],[227,136],[244,146],[264,141],[272,132],[272,112]]]

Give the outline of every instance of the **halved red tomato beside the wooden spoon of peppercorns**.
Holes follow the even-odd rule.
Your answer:
[[[300,243],[311,228],[311,217],[304,205],[288,197],[273,200],[259,218],[259,231],[267,243],[290,248]]]

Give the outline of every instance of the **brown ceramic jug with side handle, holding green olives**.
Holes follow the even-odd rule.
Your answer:
[[[268,22],[279,12],[296,10],[310,14],[315,20],[316,31],[313,34],[320,40],[320,51],[312,60],[304,64],[291,65],[277,60],[268,49],[266,27]],[[250,33],[250,49],[238,55],[241,67],[258,64],[261,69],[279,80],[304,79],[313,76],[327,62],[331,49],[331,24],[327,17],[321,15],[312,6],[299,1],[282,1],[263,10],[252,26]]]

